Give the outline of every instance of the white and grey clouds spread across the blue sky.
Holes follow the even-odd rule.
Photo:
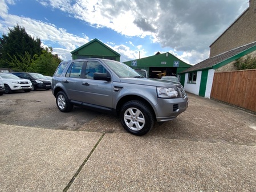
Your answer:
[[[209,57],[209,45],[245,10],[249,4],[241,0],[187,1],[187,0],[37,0],[42,6],[60,10],[68,17],[79,19],[95,28],[109,28],[129,40],[127,44],[116,42],[109,46],[121,54],[125,61],[147,55],[143,44],[132,38],[145,38],[159,43],[185,62],[196,64]],[[88,36],[80,37],[58,28],[53,23],[8,14],[8,4],[15,1],[0,0],[0,30],[8,32],[6,26],[24,26],[29,34],[38,36],[44,43],[55,44],[54,51],[63,58],[87,43]],[[45,21],[45,20],[44,20]],[[146,43],[145,43],[146,44]],[[138,46],[140,46],[138,50]],[[67,50],[66,53],[64,50]]]

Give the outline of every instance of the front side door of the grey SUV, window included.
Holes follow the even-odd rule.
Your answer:
[[[82,94],[79,100],[84,105],[102,108],[107,110],[112,108],[112,81],[94,80],[94,73],[107,73],[106,68],[98,61],[89,60],[84,68],[80,91]]]

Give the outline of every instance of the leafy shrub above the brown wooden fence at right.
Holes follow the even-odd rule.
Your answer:
[[[256,69],[256,56],[247,55],[245,58],[235,60],[235,67],[238,70]]]

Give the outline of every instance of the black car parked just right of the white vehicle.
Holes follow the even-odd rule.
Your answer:
[[[32,91],[36,89],[49,90],[51,88],[51,80],[40,73],[13,72],[13,74],[23,79],[29,79],[32,83]]]

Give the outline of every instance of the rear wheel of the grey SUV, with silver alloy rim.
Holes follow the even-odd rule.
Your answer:
[[[57,93],[56,104],[61,112],[70,112],[73,109],[73,105],[68,101],[68,98],[63,91]]]

